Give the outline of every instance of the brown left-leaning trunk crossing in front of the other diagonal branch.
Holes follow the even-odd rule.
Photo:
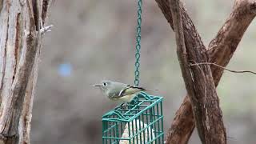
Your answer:
[[[191,42],[186,43],[187,47],[185,46],[183,26],[186,29],[190,29],[193,24],[192,22],[187,22],[183,23],[182,26],[182,14],[179,4],[179,0],[170,0],[178,60],[186,91],[192,104],[198,135],[202,143],[225,144],[226,130],[210,66],[190,67],[191,62],[207,62],[206,48],[202,45],[202,42],[196,42],[197,46],[195,47],[190,47]],[[187,15],[183,16],[187,17]]]

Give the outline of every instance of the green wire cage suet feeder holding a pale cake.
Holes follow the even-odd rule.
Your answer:
[[[102,116],[103,144],[164,143],[162,97],[141,92],[134,99]]]

